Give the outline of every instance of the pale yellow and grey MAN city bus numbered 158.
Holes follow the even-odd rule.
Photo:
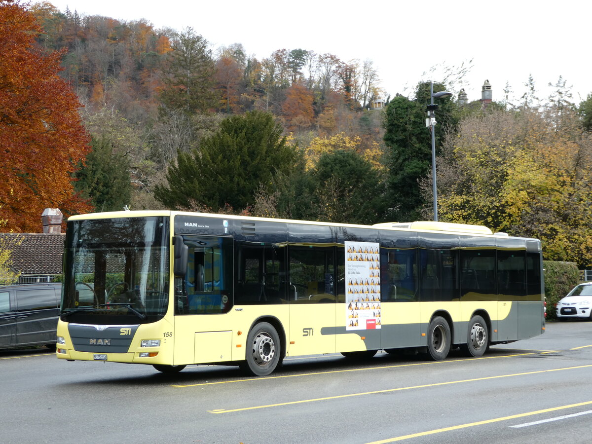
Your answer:
[[[238,365],[416,349],[445,359],[543,333],[536,239],[175,211],[67,221],[57,352],[68,361]]]

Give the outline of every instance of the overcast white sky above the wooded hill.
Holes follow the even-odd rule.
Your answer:
[[[35,2],[35,0],[31,0]],[[464,88],[481,98],[488,79],[494,100],[506,83],[520,97],[532,74],[546,98],[561,75],[577,104],[592,92],[587,1],[530,0],[49,0],[60,11],[118,20],[144,18],[155,28],[194,28],[215,50],[242,43],[258,59],[278,49],[331,53],[374,62],[386,95],[408,95],[420,79],[439,81],[433,66],[472,59]],[[458,94],[460,86],[449,88]]]

